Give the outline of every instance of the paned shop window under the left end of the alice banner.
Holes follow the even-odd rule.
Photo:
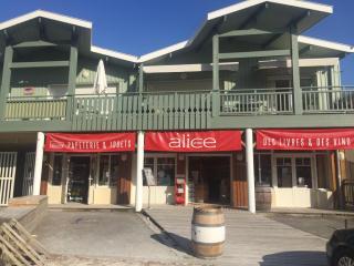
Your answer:
[[[175,185],[175,157],[145,157],[144,167],[152,168],[158,186]],[[145,178],[144,185],[147,185]]]

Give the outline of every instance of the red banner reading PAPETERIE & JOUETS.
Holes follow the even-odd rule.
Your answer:
[[[135,133],[63,134],[49,133],[45,152],[98,153],[135,151]]]

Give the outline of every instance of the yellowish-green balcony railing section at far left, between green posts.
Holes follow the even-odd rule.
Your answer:
[[[64,120],[66,99],[50,96],[9,98],[4,120]]]

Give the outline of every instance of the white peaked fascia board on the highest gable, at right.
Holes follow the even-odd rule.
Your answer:
[[[238,12],[240,10],[251,8],[253,6],[257,6],[260,3],[266,3],[266,2],[279,3],[279,4],[283,4],[283,6],[302,8],[302,9],[308,9],[308,10],[314,10],[314,11],[324,12],[324,13],[333,13],[333,7],[322,4],[322,3],[315,3],[315,2],[299,1],[299,0],[287,0],[287,1],[284,1],[284,0],[248,0],[248,1],[242,1],[240,3],[236,3],[232,6],[209,12],[208,20],[220,18],[222,16]]]

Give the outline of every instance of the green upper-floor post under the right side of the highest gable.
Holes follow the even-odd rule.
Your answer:
[[[294,113],[302,114],[302,91],[300,86],[299,43],[298,43],[299,35],[298,35],[298,30],[295,25],[291,27],[290,35],[291,35],[291,65],[292,65]]]

